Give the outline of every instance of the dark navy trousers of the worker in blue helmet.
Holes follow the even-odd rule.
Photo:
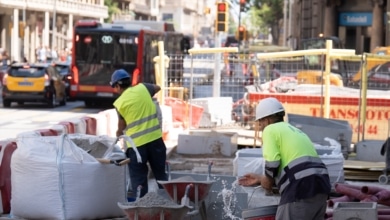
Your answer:
[[[138,186],[142,186],[141,197],[148,192],[148,165],[153,171],[156,180],[168,180],[165,172],[167,158],[166,146],[162,138],[137,147],[142,163],[137,162],[137,156],[132,148],[128,148],[126,155],[130,158],[129,172],[133,195],[136,196]],[[161,185],[159,185],[161,188]]]

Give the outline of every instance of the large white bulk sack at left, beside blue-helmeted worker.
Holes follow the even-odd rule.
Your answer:
[[[22,137],[17,146],[11,160],[13,216],[66,220],[123,216],[117,203],[127,201],[126,166],[100,164],[66,135]]]

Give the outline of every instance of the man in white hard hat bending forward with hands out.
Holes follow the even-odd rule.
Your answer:
[[[265,172],[248,173],[238,183],[261,184],[268,192],[276,184],[281,194],[276,220],[323,220],[331,190],[328,170],[309,137],[284,122],[284,115],[277,99],[259,102],[255,121],[262,131]]]

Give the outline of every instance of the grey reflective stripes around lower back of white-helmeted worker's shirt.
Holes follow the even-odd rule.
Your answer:
[[[318,164],[316,167],[310,167],[301,171],[298,171],[294,174],[288,174],[286,170],[291,171],[294,167],[301,165],[303,163],[312,163],[312,164]],[[279,185],[280,192],[283,192],[284,189],[290,184],[290,178],[293,176],[295,180],[303,179],[305,177],[311,176],[311,175],[326,175],[328,174],[328,170],[326,169],[325,165],[322,163],[321,158],[319,157],[300,157],[296,160],[291,161],[287,167],[285,167],[277,182]],[[290,176],[290,178],[289,178]]]

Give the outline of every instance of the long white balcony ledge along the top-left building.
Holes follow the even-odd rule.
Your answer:
[[[91,18],[107,18],[108,9],[104,5],[87,4],[75,0],[0,0],[0,7],[26,8],[32,11],[53,11],[56,3],[56,12],[73,14]]]

